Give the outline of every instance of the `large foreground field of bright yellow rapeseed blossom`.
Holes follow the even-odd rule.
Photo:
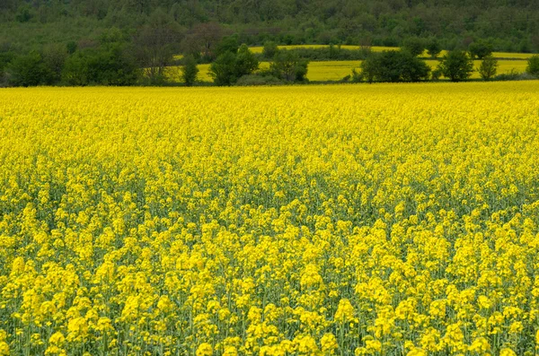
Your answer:
[[[0,90],[0,355],[535,355],[538,98]]]

